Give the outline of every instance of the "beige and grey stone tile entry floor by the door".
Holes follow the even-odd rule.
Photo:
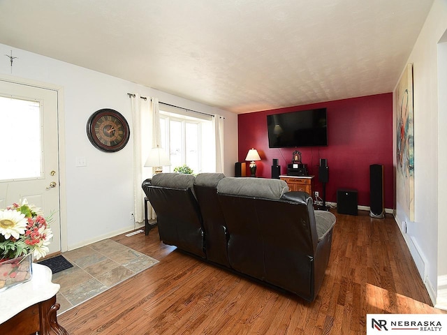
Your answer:
[[[62,255],[73,267],[53,274],[52,282],[61,285],[58,314],[81,304],[131,276],[152,267],[158,260],[111,239],[67,251]]]

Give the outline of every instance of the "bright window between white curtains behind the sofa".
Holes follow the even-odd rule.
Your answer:
[[[212,117],[163,103],[159,109],[161,147],[169,152],[171,163],[163,171],[174,172],[176,167],[186,164],[194,174],[215,172]]]

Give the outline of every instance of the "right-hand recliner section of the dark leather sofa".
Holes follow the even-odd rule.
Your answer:
[[[217,186],[230,266],[313,301],[323,282],[334,214],[279,179],[226,178]]]

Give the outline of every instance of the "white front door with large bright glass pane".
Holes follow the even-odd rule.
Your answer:
[[[0,208],[27,199],[52,215],[61,251],[57,91],[0,80]]]

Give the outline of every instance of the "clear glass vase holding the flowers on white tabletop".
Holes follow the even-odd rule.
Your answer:
[[[0,262],[0,292],[31,281],[33,274],[31,253]]]

